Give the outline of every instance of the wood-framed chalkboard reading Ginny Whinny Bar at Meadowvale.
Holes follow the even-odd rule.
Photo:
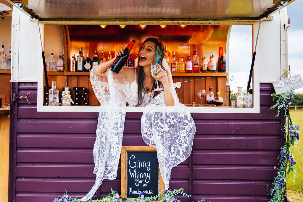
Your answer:
[[[122,146],[121,193],[136,198],[156,196],[164,189],[160,175],[157,152],[151,146]],[[158,200],[158,199],[157,199]]]

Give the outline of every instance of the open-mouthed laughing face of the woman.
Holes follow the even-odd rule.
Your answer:
[[[155,43],[146,41],[140,48],[140,66],[147,66],[155,62]]]

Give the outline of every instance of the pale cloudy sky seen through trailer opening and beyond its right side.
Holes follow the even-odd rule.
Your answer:
[[[303,22],[301,11],[303,1],[296,0],[287,6],[288,18],[291,26],[288,28],[288,65],[295,74],[303,76]],[[258,53],[257,53],[258,54]],[[229,39],[229,75],[230,89],[236,92],[236,87],[246,89],[252,60],[251,25],[234,25],[231,27]],[[291,74],[292,76],[294,74]],[[296,93],[303,93],[303,88]]]

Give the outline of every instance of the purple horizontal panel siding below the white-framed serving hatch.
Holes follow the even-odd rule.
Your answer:
[[[31,92],[32,103],[18,100],[11,136],[10,201],[52,201],[65,189],[83,197],[95,180],[92,148],[98,113],[37,112],[37,83],[18,83],[18,95],[26,92]],[[285,123],[269,110],[272,92],[271,84],[260,84],[259,114],[192,113],[197,127],[193,152],[172,169],[171,187],[184,188],[194,201],[267,202]],[[141,116],[126,114],[123,145],[145,145]],[[119,164],[117,179],[104,180],[98,198],[110,187],[120,192],[120,171]]]

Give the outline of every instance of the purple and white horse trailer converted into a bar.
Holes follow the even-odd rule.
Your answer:
[[[113,11],[112,4],[119,8]],[[235,6],[239,8],[232,10]],[[284,144],[281,129],[285,124],[285,118],[276,117],[276,110],[269,110],[274,104],[270,94],[274,93],[272,82],[277,81],[288,66],[287,31],[284,27],[287,11],[285,5],[267,10],[274,6],[271,1],[257,0],[240,1],[236,5],[220,0],[184,1],[177,5],[174,1],[149,0],[75,3],[30,0],[25,10],[14,6],[10,92],[11,96],[17,97],[30,94],[28,101],[11,100],[8,201],[52,201],[61,198],[65,189],[70,196],[79,194],[83,197],[94,184],[92,151],[99,107],[45,105],[41,46],[52,43],[54,47],[62,47],[62,41],[54,38],[46,41],[47,35],[61,32],[62,25],[66,28],[103,24],[228,25],[225,41],[227,61],[231,26],[252,25],[254,47],[257,43],[252,80],[253,107],[189,107],[197,129],[193,149],[188,159],[172,169],[170,186],[184,188],[185,193],[193,196],[181,197],[181,201],[202,198],[212,202],[270,200],[269,191],[276,175],[274,166]],[[138,12],[132,12],[132,8]],[[158,12],[157,8],[166,10]],[[46,27],[51,25],[59,28],[48,34]],[[63,40],[64,43],[70,45],[71,41]],[[47,51],[50,53],[51,49]],[[227,63],[228,68],[232,67]],[[82,81],[76,78],[77,75],[56,74],[48,75],[48,81],[57,77],[57,84],[63,80],[62,86],[72,82],[78,82],[78,86],[86,84],[89,99],[96,99],[88,77]],[[208,86],[207,82],[203,85]],[[181,100],[184,104],[191,104]],[[122,145],[145,145],[141,135],[142,112],[142,107],[127,108]],[[120,192],[120,164],[117,178],[104,180],[93,199],[107,196],[110,187]]]

